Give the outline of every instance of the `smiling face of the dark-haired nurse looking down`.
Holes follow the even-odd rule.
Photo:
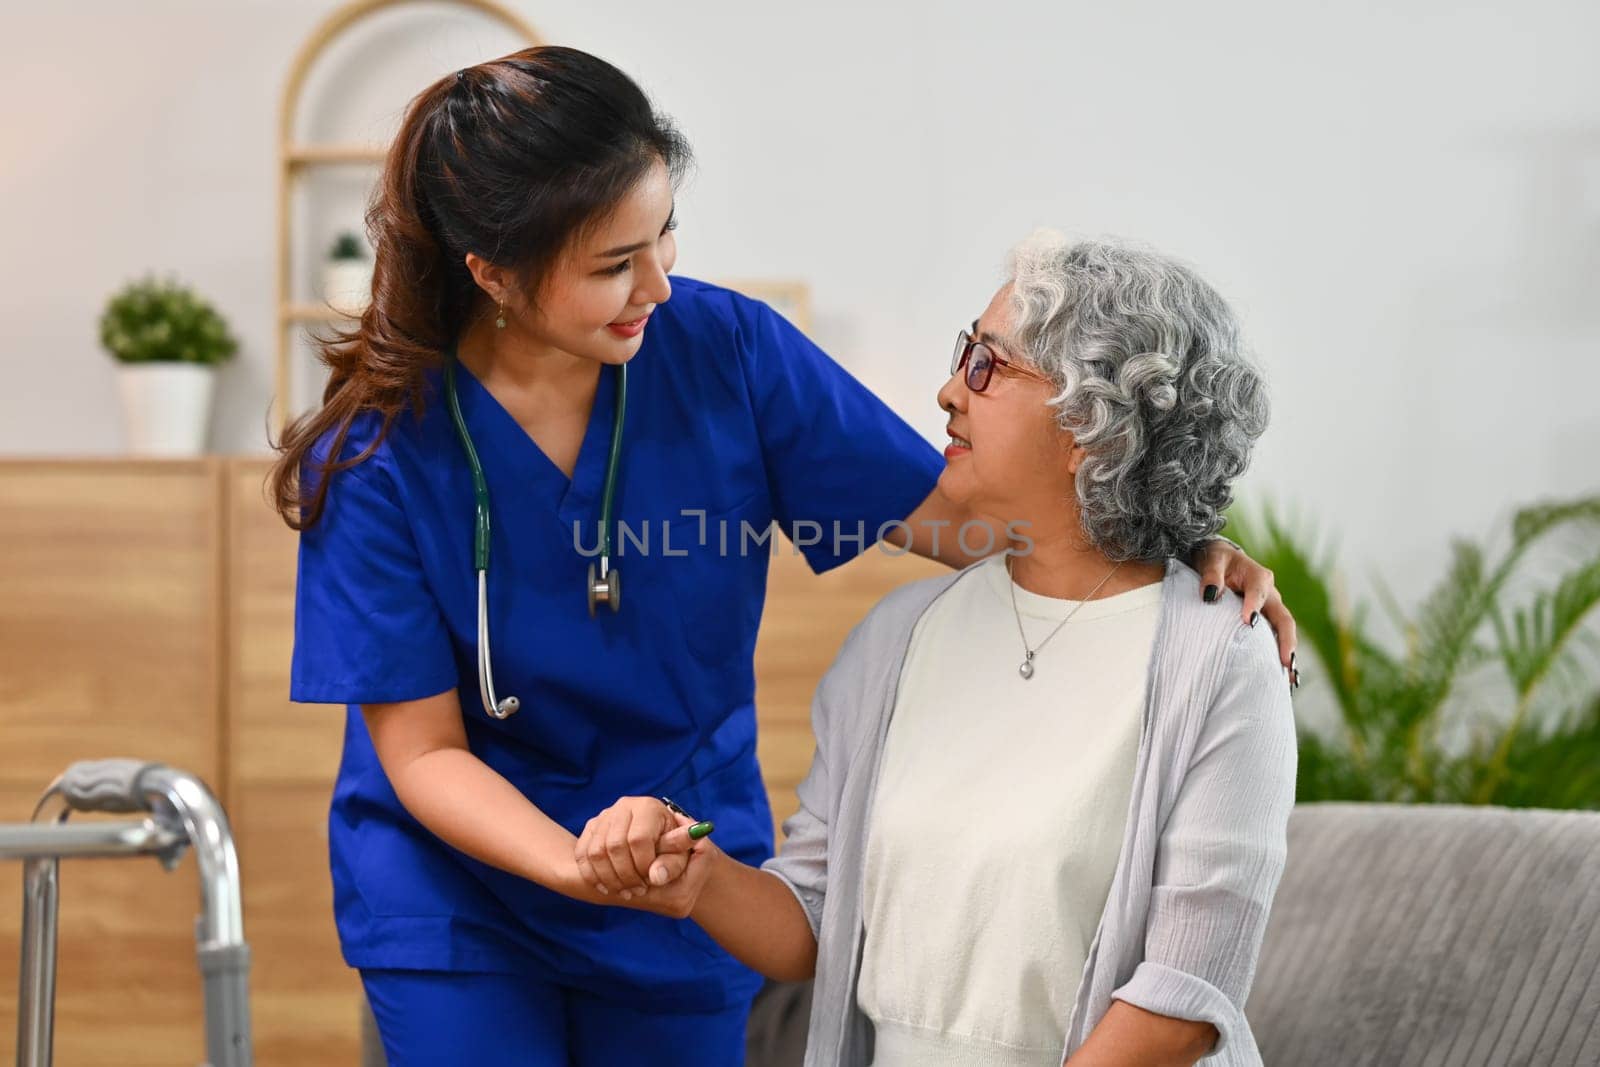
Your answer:
[[[634,358],[650,314],[672,296],[667,274],[678,258],[672,194],[658,160],[608,218],[562,251],[533,291],[515,288],[512,272],[469,254],[478,285],[506,304],[507,330],[498,341],[600,363]]]

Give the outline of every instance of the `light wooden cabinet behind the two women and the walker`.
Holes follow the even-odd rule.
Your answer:
[[[162,760],[222,797],[253,952],[256,1062],[358,1062],[326,813],[344,710],[288,701],[296,534],[267,458],[0,461],[0,821],[69,763]],[[821,577],[771,560],[757,645],[774,821],[811,761],[811,691],[890,589],[941,568],[867,552]],[[62,862],[56,1062],[200,1062],[194,861]],[[21,864],[0,865],[0,1049],[16,1030]]]

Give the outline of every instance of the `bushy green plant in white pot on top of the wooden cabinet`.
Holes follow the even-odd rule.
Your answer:
[[[101,344],[118,363],[128,451],[203,453],[216,368],[238,350],[216,309],[176,280],[133,282],[106,306]]]

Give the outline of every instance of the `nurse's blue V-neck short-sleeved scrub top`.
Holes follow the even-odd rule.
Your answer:
[[[472,474],[442,371],[424,416],[400,414],[333,475],[301,534],[290,699],[349,705],[330,854],[352,966],[526,973],[662,1009],[734,1005],[760,984],[691,921],[582,904],[440,841],[400,805],[360,715],[454,688],[472,752],[573,833],[618,797],[667,793],[714,819],[731,856],[773,854],[754,673],[773,547],[757,539],[776,520],[816,541],[814,571],[845,563],[944,461],[770,307],[674,278],[629,363],[621,611],[589,617],[597,560],[579,545],[598,539],[616,376],[602,368],[568,482],[458,365],[491,494],[490,635],[496,691],[522,699],[510,718],[478,697]],[[363,413],[341,458],[376,430]]]

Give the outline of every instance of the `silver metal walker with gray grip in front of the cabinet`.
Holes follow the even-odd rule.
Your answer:
[[[139,817],[69,825],[74,811]],[[32,822],[0,824],[0,859],[24,861],[18,1067],[51,1062],[61,857],[154,856],[173,870],[189,845],[200,867],[195,941],[205,984],[205,1067],[250,1067],[250,945],[227,814],[194,774],[139,760],[74,763],[38,798]]]

